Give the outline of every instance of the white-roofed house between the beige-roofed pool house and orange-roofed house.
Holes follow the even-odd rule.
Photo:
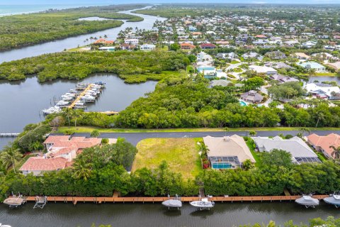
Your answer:
[[[292,161],[295,164],[321,162],[317,154],[297,136],[290,139],[283,139],[280,136],[274,138],[253,137],[252,139],[260,152],[271,152],[273,149],[285,150],[292,155]]]

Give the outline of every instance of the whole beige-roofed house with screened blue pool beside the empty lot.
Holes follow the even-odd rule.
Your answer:
[[[208,159],[214,170],[235,169],[242,167],[245,160],[255,163],[253,155],[239,135],[225,137],[203,137],[208,147]]]

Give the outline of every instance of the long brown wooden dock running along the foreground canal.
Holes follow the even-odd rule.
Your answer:
[[[315,199],[324,199],[329,195],[314,195]],[[210,201],[215,202],[243,202],[243,201],[295,201],[300,198],[297,196],[212,196],[209,198]],[[174,199],[174,197],[170,197]],[[76,205],[79,202],[93,202],[94,204],[103,203],[161,203],[162,201],[168,200],[169,197],[78,197],[78,196],[47,196],[47,201],[50,202],[72,202]],[[181,197],[181,201],[190,202],[199,200],[199,197]],[[27,201],[36,201],[36,196],[26,197]]]

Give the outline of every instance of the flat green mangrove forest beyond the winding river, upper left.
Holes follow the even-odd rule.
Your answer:
[[[125,5],[123,9],[135,9],[141,5]],[[110,19],[142,21],[143,18],[116,13],[122,7],[87,7],[62,11],[46,11],[0,18],[0,50],[20,48],[72,35],[94,33],[121,26],[123,21],[79,21],[79,18],[98,16]]]

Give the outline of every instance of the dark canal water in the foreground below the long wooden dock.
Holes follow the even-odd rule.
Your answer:
[[[19,209],[0,205],[0,221],[12,227],[89,227],[92,223],[112,226],[239,226],[248,223],[278,224],[293,220],[308,223],[310,218],[340,217],[334,206],[321,203],[316,209],[306,209],[292,202],[224,203],[210,211],[198,211],[189,204],[181,210],[168,210],[162,204],[54,204],[33,209],[33,203]]]

